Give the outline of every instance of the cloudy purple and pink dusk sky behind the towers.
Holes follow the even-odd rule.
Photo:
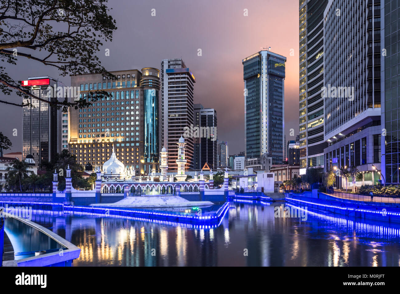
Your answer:
[[[109,0],[118,29],[98,52],[109,71],[160,69],[161,60],[182,58],[196,78],[194,103],[215,108],[218,140],[228,141],[229,154],[244,151],[244,82],[242,59],[271,47],[286,56],[286,141],[298,134],[298,4],[296,0]],[[152,16],[152,11],[155,16]],[[244,10],[248,16],[244,16]],[[110,50],[106,56],[105,50]],[[201,56],[198,56],[201,49]],[[4,64],[1,64],[4,65]],[[70,85],[69,76],[19,57],[6,65],[15,80],[51,76]],[[21,98],[0,93],[0,100]],[[17,136],[13,136],[13,129]],[[294,136],[289,136],[290,129]],[[0,130],[22,152],[22,109],[0,104]],[[15,132],[14,132],[15,134]]]

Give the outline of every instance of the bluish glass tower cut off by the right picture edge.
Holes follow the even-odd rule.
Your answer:
[[[382,174],[387,184],[398,184],[399,181],[399,136],[398,119],[400,119],[400,82],[398,81],[398,70],[400,73],[400,24],[399,4],[396,1],[384,0],[381,6],[374,5],[374,14],[381,18],[381,103],[382,103],[382,130],[386,137],[382,137],[381,148],[375,148],[374,157],[382,155]],[[383,5],[384,4],[384,5]],[[371,25],[371,24],[370,24]],[[376,25],[376,22],[373,23]],[[397,46],[396,46],[397,44]],[[384,48],[384,49],[383,49]],[[397,61],[396,61],[397,60]],[[379,143],[379,142],[378,142]],[[380,154],[380,150],[383,150]]]

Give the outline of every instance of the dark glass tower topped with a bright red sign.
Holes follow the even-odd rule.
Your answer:
[[[49,76],[28,78],[22,81],[22,86],[46,101],[65,100],[64,84]],[[63,90],[57,95],[58,87]],[[56,106],[32,97],[29,102],[33,106],[22,108],[22,158],[30,154],[40,166],[54,159],[63,148],[62,141],[68,140],[68,112],[63,113]]]

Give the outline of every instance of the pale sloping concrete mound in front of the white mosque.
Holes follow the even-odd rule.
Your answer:
[[[209,201],[189,201],[179,196],[133,196],[124,198],[115,203],[90,204],[96,207],[121,207],[121,208],[167,208],[167,207],[200,207],[210,206]]]

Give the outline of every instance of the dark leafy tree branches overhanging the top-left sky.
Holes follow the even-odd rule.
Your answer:
[[[56,68],[61,76],[97,73],[110,78],[114,75],[101,66],[98,52],[102,41],[112,41],[116,22],[108,15],[107,0],[8,0],[0,6],[0,91],[11,95],[14,91],[32,105],[29,98],[51,106],[85,108],[104,95],[101,90],[90,91],[86,98],[49,102],[32,94],[14,80],[7,65],[24,68],[27,62]],[[56,26],[54,26],[56,24]],[[17,56],[14,56],[14,49]],[[104,54],[104,53],[103,53]],[[28,61],[29,60],[29,61]],[[18,64],[17,64],[18,62]],[[25,62],[25,63],[24,63]],[[88,99],[90,97],[90,99]]]

